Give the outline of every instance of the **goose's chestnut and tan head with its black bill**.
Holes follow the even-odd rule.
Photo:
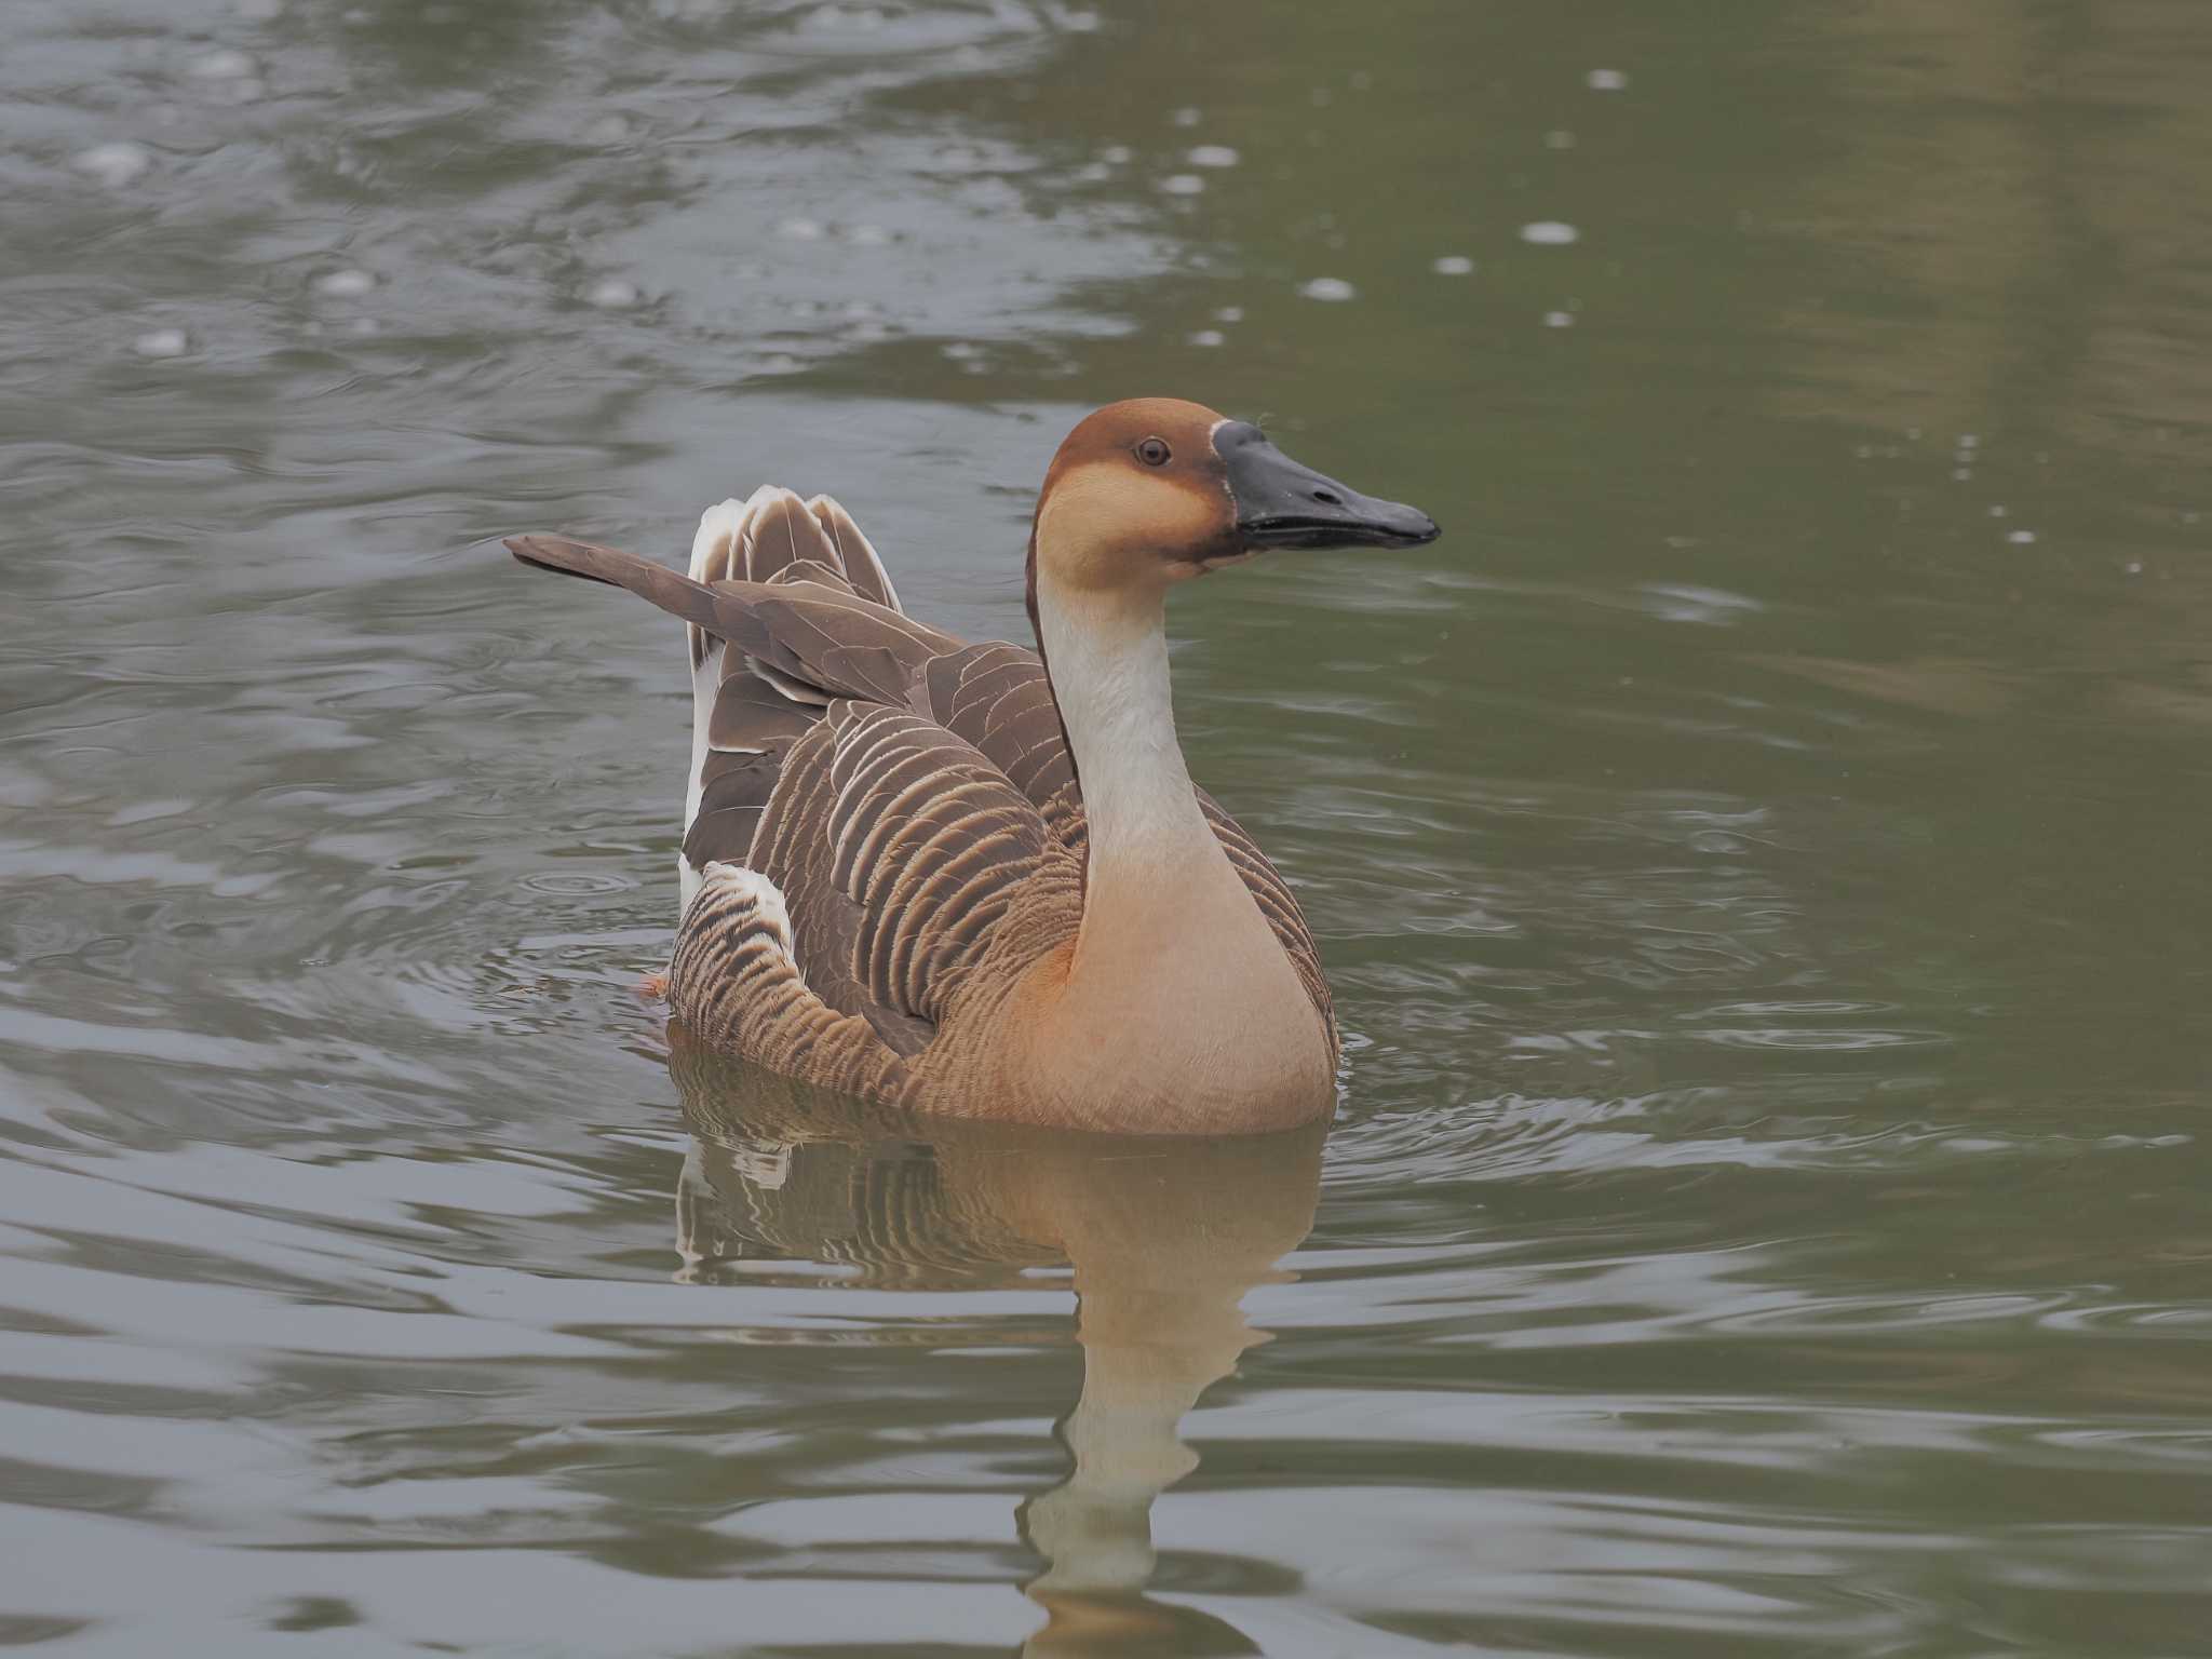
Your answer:
[[[1420,546],[1436,520],[1316,473],[1250,420],[1130,398],[1060,445],[1031,531],[1031,599],[1150,595],[1270,549]]]

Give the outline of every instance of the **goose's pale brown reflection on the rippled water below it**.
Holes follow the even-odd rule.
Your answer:
[[[670,1037],[695,1135],[684,1276],[801,1256],[942,1290],[1073,1267],[1084,1385],[1060,1436],[1075,1469],[1022,1506],[1046,1559],[1029,1595],[1048,1615],[1024,1652],[1252,1652],[1212,1615],[1144,1595],[1152,1500],[1197,1467],[1183,1413],[1265,1340],[1241,1303],[1314,1225],[1323,1130],[1139,1139],[916,1119]]]

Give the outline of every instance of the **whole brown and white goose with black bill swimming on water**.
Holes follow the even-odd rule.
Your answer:
[[[825,495],[708,509],[688,575],[509,549],[688,624],[668,998],[695,1037],[918,1110],[1252,1133],[1329,1110],[1336,1020],[1290,887],[1183,768],[1166,593],[1267,546],[1433,535],[1254,427],[1141,398],[1046,473],[1040,650],[905,615]]]

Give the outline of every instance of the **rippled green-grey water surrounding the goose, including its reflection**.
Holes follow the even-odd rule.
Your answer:
[[[9,0],[0,1641],[2212,1652],[2212,13]],[[1325,1144],[681,1042],[675,624],[1091,405]]]

